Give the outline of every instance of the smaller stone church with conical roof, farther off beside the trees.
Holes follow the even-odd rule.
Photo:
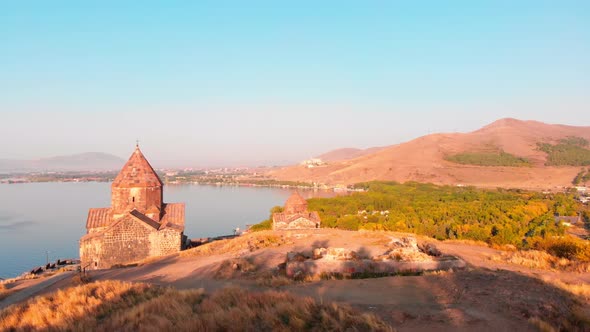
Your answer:
[[[307,210],[307,201],[295,192],[287,202],[283,212],[273,213],[272,229],[312,229],[320,228],[320,215],[316,211]]]

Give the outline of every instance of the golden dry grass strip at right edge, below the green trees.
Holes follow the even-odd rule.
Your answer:
[[[545,251],[539,250],[503,252],[500,255],[490,257],[490,259],[526,266],[533,269],[560,270],[579,273],[590,272],[590,263],[588,262],[559,258]]]

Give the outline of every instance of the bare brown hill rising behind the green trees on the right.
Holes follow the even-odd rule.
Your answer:
[[[471,133],[427,135],[358,158],[315,168],[285,167],[268,175],[277,180],[329,185],[388,180],[550,189],[571,186],[580,167],[544,166],[546,154],[538,150],[537,143],[556,143],[569,136],[590,140],[590,127],[501,119]],[[490,150],[527,158],[531,167],[473,166],[445,160],[457,153]]]

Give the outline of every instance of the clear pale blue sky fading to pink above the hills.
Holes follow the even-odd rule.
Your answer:
[[[0,158],[279,164],[589,105],[590,1],[0,3]]]

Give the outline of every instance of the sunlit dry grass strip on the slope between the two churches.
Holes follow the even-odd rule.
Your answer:
[[[218,240],[181,252],[181,256],[208,256],[227,253],[252,252],[268,247],[290,244],[285,236],[272,231],[254,232],[234,239]]]

